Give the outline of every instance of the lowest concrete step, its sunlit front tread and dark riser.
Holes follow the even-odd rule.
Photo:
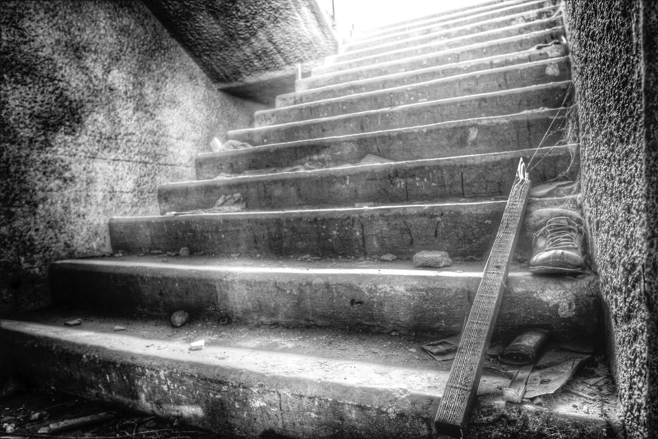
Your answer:
[[[98,329],[103,325],[109,328]],[[336,347],[322,356],[221,342],[188,351],[181,337],[173,340],[153,329],[146,337],[116,334],[110,325],[101,320],[95,330],[85,330],[3,320],[0,363],[34,385],[179,419],[231,438],[435,436],[431,416],[447,378],[443,368],[400,361],[382,365],[372,353],[355,361],[342,358]],[[166,349],[145,351],[149,344]],[[348,347],[357,351],[360,344],[355,339]],[[485,421],[491,431],[493,423],[486,419],[493,412],[494,419],[504,414],[503,428],[510,416],[540,421],[539,431],[552,430],[559,421],[565,430],[576,430],[572,437],[586,438],[593,426],[596,434],[601,428],[612,433],[606,419],[619,419],[613,397],[591,403],[588,415],[572,409],[574,397],[567,394],[557,395],[551,409],[508,408],[497,390],[506,382],[483,374],[474,425]]]

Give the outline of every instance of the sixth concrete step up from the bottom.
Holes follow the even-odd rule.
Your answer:
[[[498,92],[459,96],[442,100],[408,103],[392,108],[373,109],[344,115],[320,117],[280,125],[229,131],[236,140],[260,136],[282,142],[357,132],[415,127],[443,121],[519,113],[538,108],[570,105],[570,81],[549,82]],[[256,134],[257,133],[257,134]],[[276,140],[273,140],[276,139]]]

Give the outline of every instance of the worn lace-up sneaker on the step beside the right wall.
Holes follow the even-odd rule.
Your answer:
[[[580,273],[585,269],[582,257],[583,227],[567,216],[546,221],[532,237],[531,273]]]

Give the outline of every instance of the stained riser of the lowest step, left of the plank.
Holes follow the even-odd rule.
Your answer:
[[[263,372],[250,364],[222,364],[236,355],[253,361],[246,349],[205,349],[171,360],[157,353],[147,357],[138,347],[103,349],[5,330],[0,347],[8,353],[0,355],[3,370],[25,376],[35,386],[182,420],[223,438],[279,437],[276,432],[310,438],[326,431],[334,437],[430,438],[439,400],[429,392],[405,390],[401,395],[354,384],[363,373],[357,367],[345,368],[343,384],[276,373],[286,361],[282,355],[275,359],[279,364]],[[298,357],[291,355],[290,365],[297,365]],[[307,361],[313,360],[326,370],[320,358]],[[310,364],[305,366],[310,370]]]

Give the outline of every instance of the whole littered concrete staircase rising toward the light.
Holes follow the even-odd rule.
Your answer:
[[[451,361],[419,345],[461,329],[519,158],[534,185],[578,179],[559,5],[496,0],[372,30],[296,90],[229,132],[251,147],[199,154],[196,181],[161,185],[161,216],[112,218],[114,257],[53,264],[53,297],[76,308],[3,321],[3,367],[228,437],[434,437]],[[246,209],[214,208],[238,192]],[[602,345],[594,274],[528,273],[532,216],[559,206],[577,194],[530,200],[498,343],[542,327]],[[455,263],[415,268],[419,250]],[[179,309],[191,322],[174,328]],[[617,432],[614,392],[505,405],[507,384],[484,370],[471,437]]]

